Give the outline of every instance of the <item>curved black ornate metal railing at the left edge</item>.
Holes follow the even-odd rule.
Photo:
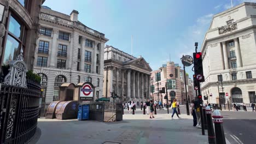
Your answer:
[[[36,133],[40,85],[27,80],[27,88],[1,86],[0,143],[26,143]]]

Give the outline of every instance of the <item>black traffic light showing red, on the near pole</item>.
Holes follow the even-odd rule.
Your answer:
[[[197,80],[200,82],[205,81],[205,77],[203,77],[203,67],[202,67],[202,52],[194,52],[193,53],[193,58],[194,58],[194,71],[195,75],[201,75],[201,79]],[[197,78],[197,77],[196,77]]]

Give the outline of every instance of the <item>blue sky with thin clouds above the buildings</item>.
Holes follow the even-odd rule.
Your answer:
[[[256,0],[232,0],[234,6],[242,2]],[[182,66],[180,58],[193,56],[195,42],[200,51],[212,16],[231,8],[231,0],[46,0],[43,5],[67,15],[78,10],[78,20],[104,33],[106,45],[142,56],[157,70],[170,60]],[[192,67],[185,69],[190,78]]]

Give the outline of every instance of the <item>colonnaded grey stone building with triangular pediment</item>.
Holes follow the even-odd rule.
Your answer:
[[[109,98],[114,92],[123,101],[145,101],[150,91],[150,68],[143,57],[133,57],[113,46],[104,49],[103,95]]]

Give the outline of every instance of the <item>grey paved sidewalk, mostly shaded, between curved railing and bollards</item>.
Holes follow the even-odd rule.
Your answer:
[[[109,123],[39,118],[37,143],[208,143],[207,130],[203,136],[201,129],[193,127],[192,116],[181,117],[159,114],[149,119],[148,115],[129,113],[123,121]]]

